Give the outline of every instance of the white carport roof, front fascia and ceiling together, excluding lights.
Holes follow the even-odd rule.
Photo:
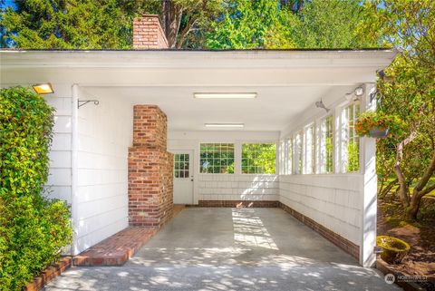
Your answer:
[[[363,82],[375,82],[376,71],[395,55],[391,50],[0,52],[3,84],[76,83],[83,98],[157,104],[174,131],[204,130],[206,122],[280,131],[320,98],[328,106]],[[194,92],[258,95],[198,100]]]

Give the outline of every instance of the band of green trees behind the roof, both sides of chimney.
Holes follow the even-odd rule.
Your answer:
[[[130,49],[135,16],[158,14],[169,47],[362,48],[358,0],[28,0],[0,17],[2,46]]]

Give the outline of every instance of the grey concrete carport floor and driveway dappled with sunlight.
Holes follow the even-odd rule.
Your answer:
[[[122,267],[73,267],[60,290],[401,290],[282,209],[188,208]]]

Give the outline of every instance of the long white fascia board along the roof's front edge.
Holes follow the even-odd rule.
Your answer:
[[[378,67],[395,50],[366,51],[0,51],[2,67],[299,68]]]

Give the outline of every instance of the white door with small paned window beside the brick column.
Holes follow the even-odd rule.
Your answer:
[[[174,152],[174,204],[193,204],[193,150]]]

